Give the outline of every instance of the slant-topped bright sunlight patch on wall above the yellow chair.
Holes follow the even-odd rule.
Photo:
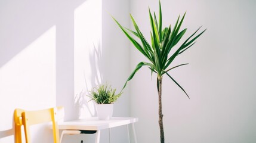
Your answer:
[[[5,115],[1,122],[13,120],[15,108],[55,105],[55,29],[48,29],[0,68],[0,112]],[[0,130],[11,128],[10,124],[0,126]]]

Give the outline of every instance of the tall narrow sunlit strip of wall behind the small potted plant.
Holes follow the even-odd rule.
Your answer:
[[[75,104],[79,117],[95,116],[93,102],[86,94],[101,83],[101,0],[88,0],[75,10]]]

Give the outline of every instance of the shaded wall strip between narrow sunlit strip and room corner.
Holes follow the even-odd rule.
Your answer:
[[[103,1],[102,16],[102,45],[103,45],[103,69],[106,72],[107,82],[111,82],[120,92],[129,76],[129,41],[118,29],[117,24],[111,16],[121,23],[129,24],[129,1]],[[116,102],[114,114],[116,116],[129,116],[129,86]]]

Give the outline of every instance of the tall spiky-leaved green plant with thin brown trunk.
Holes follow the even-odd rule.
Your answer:
[[[165,27],[162,29],[162,10],[161,10],[161,2],[159,1],[159,17],[158,20],[156,18],[156,14],[151,13],[149,8],[149,18],[150,18],[150,25],[152,32],[150,32],[150,38],[151,38],[151,45],[147,40],[144,38],[143,34],[141,33],[139,27],[137,26],[137,23],[135,22],[134,18],[130,14],[132,23],[134,25],[135,31],[130,30],[122,26],[114,17],[113,19],[118,24],[118,26],[122,29],[122,31],[125,33],[125,35],[128,37],[129,41],[132,42],[132,44],[135,46],[135,48],[138,49],[138,51],[141,52],[148,60],[149,62],[140,62],[135,67],[135,70],[132,71],[131,75],[128,77],[127,81],[125,82],[124,88],[127,85],[127,82],[132,79],[134,74],[142,67],[147,66],[151,70],[151,72],[157,74],[157,88],[158,88],[158,102],[159,102],[159,128],[160,128],[160,137],[161,137],[161,143],[165,142],[164,138],[164,125],[163,125],[163,114],[162,114],[162,79],[163,75],[166,74],[180,89],[187,95],[186,91],[174,80],[174,78],[168,73],[172,69],[175,69],[180,66],[184,66],[186,64],[180,64],[178,66],[172,66],[172,61],[174,59],[182,54],[184,51],[186,51],[188,48],[190,48],[192,45],[195,44],[195,40],[202,35],[205,30],[203,30],[201,33],[196,35],[196,32],[201,28],[199,27],[196,32],[194,32],[192,35],[189,36],[189,38],[184,41],[181,46],[174,49],[174,46],[177,45],[177,43],[180,41],[180,39],[183,37],[184,33],[186,33],[187,29],[183,29],[180,31],[181,24],[183,23],[184,17],[186,13],[183,15],[183,17],[180,20],[180,16],[178,17],[177,22],[175,23],[174,27],[171,29],[171,25],[169,27]],[[137,40],[134,39],[134,36],[137,37],[141,43],[139,43]],[[170,54],[171,51],[172,54]],[[123,89],[124,89],[123,88]],[[189,98],[189,95],[187,95]]]

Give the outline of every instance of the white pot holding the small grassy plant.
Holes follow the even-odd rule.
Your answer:
[[[96,104],[96,111],[99,120],[109,120],[113,115],[114,104]]]

